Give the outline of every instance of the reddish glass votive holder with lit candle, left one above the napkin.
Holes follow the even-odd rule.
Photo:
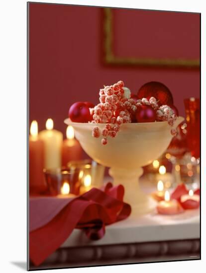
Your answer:
[[[72,196],[80,194],[79,169],[44,169],[48,194],[51,196]]]

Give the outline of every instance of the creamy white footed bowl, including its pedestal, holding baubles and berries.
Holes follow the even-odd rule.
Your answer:
[[[182,121],[179,117],[173,128]],[[75,136],[85,152],[98,163],[110,167],[109,174],[115,185],[122,184],[125,189],[124,201],[132,206],[132,214],[142,214],[156,206],[156,202],[146,196],[138,187],[138,178],[142,175],[142,166],[157,159],[168,147],[172,135],[167,122],[125,123],[114,138],[108,137],[103,145],[100,138],[92,136],[95,126],[103,129],[105,124],[75,123],[72,125]]]

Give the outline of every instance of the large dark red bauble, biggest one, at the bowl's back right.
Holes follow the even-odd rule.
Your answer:
[[[150,81],[142,85],[137,92],[138,99],[155,97],[159,105],[173,105],[173,96],[169,88],[161,82]]]

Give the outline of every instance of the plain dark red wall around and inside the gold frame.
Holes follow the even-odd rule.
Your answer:
[[[120,79],[132,92],[151,80],[163,82],[181,115],[184,98],[199,97],[199,70],[103,66],[101,8],[29,6],[29,114],[40,130],[51,117],[55,128],[65,133],[63,121],[71,104],[98,103],[103,84]],[[114,10],[114,27],[118,56],[199,58],[199,14]]]

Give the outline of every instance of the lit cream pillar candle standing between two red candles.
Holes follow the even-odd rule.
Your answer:
[[[44,141],[45,156],[44,168],[56,169],[61,167],[61,147],[63,135],[61,132],[53,129],[52,119],[46,122],[46,130],[39,133],[40,139]]]

